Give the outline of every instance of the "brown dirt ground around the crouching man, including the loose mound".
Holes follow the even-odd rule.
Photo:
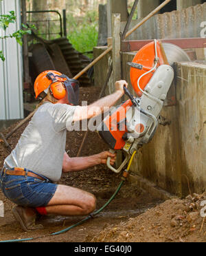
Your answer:
[[[81,88],[80,100],[92,103],[98,98],[100,89],[97,87]],[[3,134],[7,134],[12,125]],[[8,139],[12,149],[21,136],[27,123],[16,134]],[[73,131],[67,134],[66,151],[75,157],[85,131]],[[108,150],[108,146],[98,134],[89,132],[82,150],[82,156],[89,156]],[[0,167],[9,155],[0,140]],[[121,176],[99,165],[85,171],[62,175],[59,184],[78,187],[93,193],[98,199],[100,209],[121,181]],[[43,224],[42,231],[25,233],[12,216],[14,207],[0,191],[0,200],[4,202],[5,217],[0,218],[0,241],[27,237],[42,237],[33,242],[206,242],[206,224],[200,215],[201,202],[206,200],[203,195],[192,195],[185,200],[173,199],[160,202],[158,198],[141,191],[137,186],[125,182],[117,197],[100,215],[84,222],[62,235],[48,236],[73,224],[84,217],[41,217],[38,223]]]

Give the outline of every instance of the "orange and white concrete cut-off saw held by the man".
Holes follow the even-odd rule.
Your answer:
[[[163,103],[174,80],[172,65],[179,61],[190,61],[190,58],[180,47],[155,40],[142,47],[133,62],[128,63],[130,82],[137,96],[124,87],[129,99],[112,109],[98,127],[111,153],[119,150],[126,153],[117,169],[111,166],[111,158],[108,158],[107,166],[115,173],[122,171],[134,151],[155,135]]]

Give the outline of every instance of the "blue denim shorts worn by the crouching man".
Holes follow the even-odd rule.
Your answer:
[[[25,169],[25,171],[30,170]],[[30,172],[34,173],[34,171]],[[52,183],[43,175],[40,176],[45,180],[39,180],[27,175],[7,175],[1,170],[0,189],[5,197],[14,202],[14,204],[32,208],[47,206],[53,198],[58,185]]]

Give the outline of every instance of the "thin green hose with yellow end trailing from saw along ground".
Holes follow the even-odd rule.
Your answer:
[[[126,169],[126,171],[124,171],[124,173],[128,173],[128,171],[130,170],[130,166],[133,162],[133,158],[135,157],[135,154],[137,153],[137,151],[135,151],[133,153],[133,156],[131,157],[130,159],[130,162],[128,164],[128,167]],[[126,175],[127,176],[127,175]],[[56,233],[52,233],[52,234],[49,234],[49,235],[44,235],[44,236],[41,236],[41,237],[30,237],[30,238],[23,238],[23,239],[12,239],[12,240],[5,240],[5,241],[0,241],[0,243],[11,243],[11,242],[28,242],[28,241],[31,241],[31,240],[34,240],[34,239],[40,239],[40,238],[43,238],[43,237],[50,237],[50,236],[53,236],[53,235],[60,235],[62,233],[66,233],[67,231],[69,231],[70,229],[72,228],[75,228],[76,226],[79,226],[81,225],[82,223],[86,222],[87,220],[90,220],[92,219],[93,217],[95,217],[95,215],[98,215],[101,211],[103,211],[106,206],[108,206],[108,204],[110,204],[113,199],[115,198],[115,196],[117,195],[117,193],[119,193],[119,190],[122,188],[122,185],[124,184],[124,181],[126,180],[126,176],[123,176],[122,178],[122,181],[120,182],[117,190],[115,191],[115,193],[112,195],[112,197],[110,198],[110,200],[108,200],[108,202],[106,202],[106,204],[104,204],[104,206],[102,206],[102,208],[100,208],[98,211],[95,211],[94,213],[91,213],[89,216],[87,216],[84,220],[81,220],[80,222],[76,223],[76,224],[73,224],[72,226],[69,226],[69,228],[65,228],[63,229],[62,231],[58,231]]]

